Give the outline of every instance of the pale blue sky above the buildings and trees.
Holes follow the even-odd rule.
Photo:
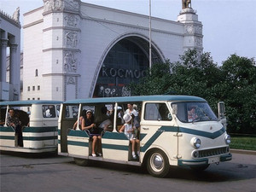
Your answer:
[[[82,2],[137,14],[149,14],[149,0],[82,0]],[[0,9],[9,15],[13,15],[15,9],[20,7],[21,26],[24,13],[43,5],[43,0],[0,0]],[[256,60],[256,0],[191,0],[191,5],[203,25],[204,52],[210,52],[214,62],[221,65],[232,54]],[[181,9],[182,0],[151,0],[153,17],[176,21]]]

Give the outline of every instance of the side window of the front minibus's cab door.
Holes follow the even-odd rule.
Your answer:
[[[145,120],[172,120],[166,103],[147,103],[145,109]]]

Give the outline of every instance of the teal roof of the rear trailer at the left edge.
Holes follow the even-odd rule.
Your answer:
[[[26,101],[6,101],[0,102],[0,106],[12,105],[12,106],[25,106],[32,104],[61,104],[61,101],[51,101],[51,100],[26,100]]]

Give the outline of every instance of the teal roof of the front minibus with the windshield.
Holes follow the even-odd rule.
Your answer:
[[[88,99],[69,100],[63,103],[77,104],[77,103],[108,103],[108,102],[144,102],[144,101],[206,102],[206,100],[198,96],[159,95],[159,96],[121,96],[121,97],[88,98]]]

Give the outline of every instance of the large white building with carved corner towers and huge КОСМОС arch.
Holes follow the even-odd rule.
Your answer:
[[[152,62],[202,51],[202,25],[193,9],[177,21],[151,18]],[[44,0],[24,15],[23,96],[62,100],[129,96],[127,84],[148,69],[148,15],[80,0]]]

